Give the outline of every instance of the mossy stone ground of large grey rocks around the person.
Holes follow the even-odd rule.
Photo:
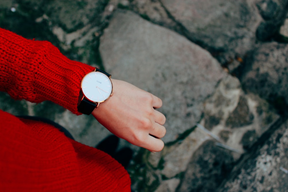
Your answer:
[[[162,98],[165,147],[134,151],[134,191],[288,191],[287,0],[2,0],[0,27],[48,40]],[[111,133],[51,102],[37,115],[96,146]],[[44,111],[45,109],[45,111]]]

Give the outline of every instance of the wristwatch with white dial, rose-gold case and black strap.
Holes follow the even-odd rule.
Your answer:
[[[112,96],[111,75],[95,69],[86,74],[81,81],[81,100],[77,107],[80,113],[90,115],[100,103]]]

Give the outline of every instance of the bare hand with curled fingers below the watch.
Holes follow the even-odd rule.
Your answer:
[[[162,100],[125,81],[111,81],[113,96],[100,103],[92,115],[110,132],[133,145],[161,151],[166,118],[155,109],[162,106]]]

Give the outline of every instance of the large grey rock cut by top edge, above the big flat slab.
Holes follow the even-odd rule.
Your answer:
[[[184,34],[211,50],[221,63],[243,57],[253,47],[255,31],[262,20],[255,1],[163,0],[163,6],[183,25]],[[237,60],[236,60],[237,61]]]

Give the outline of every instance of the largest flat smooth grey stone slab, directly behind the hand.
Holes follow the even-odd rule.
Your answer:
[[[198,45],[130,11],[116,11],[100,44],[105,69],[163,100],[165,142],[200,120],[202,102],[225,76]]]

